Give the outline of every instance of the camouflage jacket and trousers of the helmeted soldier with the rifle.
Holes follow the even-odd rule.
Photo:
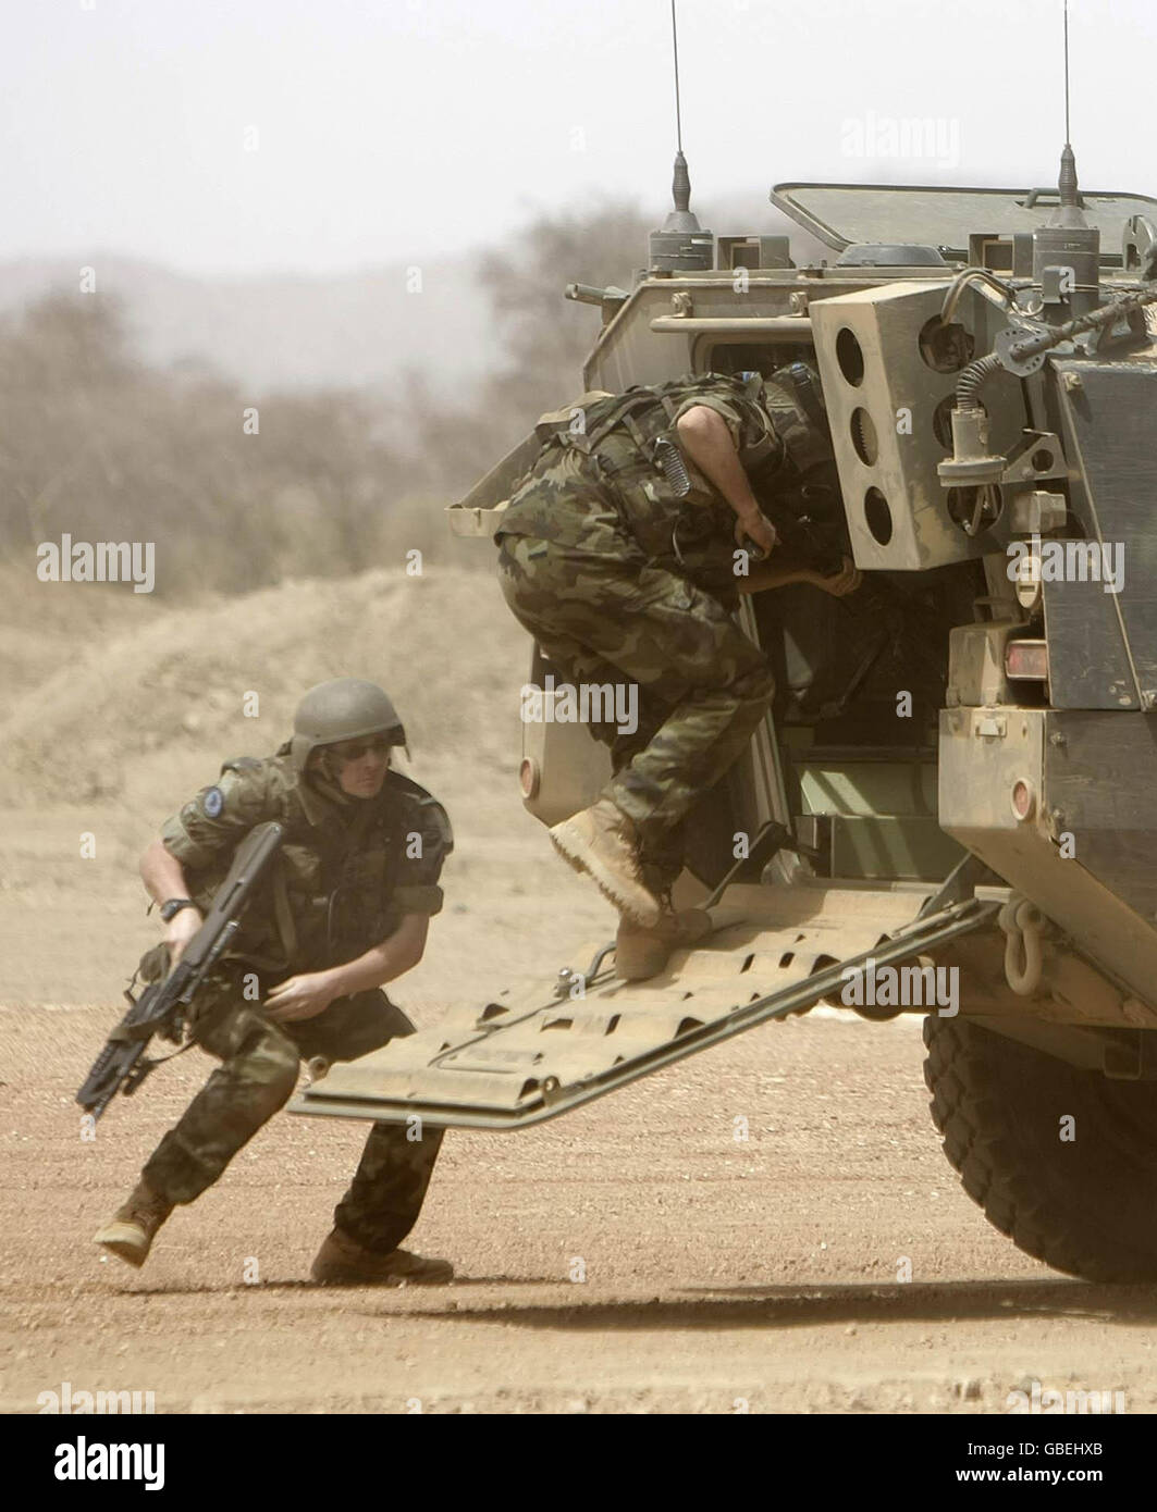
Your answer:
[[[204,913],[239,841],[265,820],[286,827],[236,950],[194,1004],[194,1037],[221,1066],[144,1167],[148,1185],[169,1202],[192,1202],[216,1181],[289,1099],[299,1060],[352,1060],[414,1033],[381,990],[337,998],[290,1024],[274,1024],[260,1009],[266,989],[284,977],[355,959],[407,913],[437,913],[437,880],[452,848],[445,810],[417,783],[390,771],[377,798],[349,800],[325,782],[299,779],[287,751],[227,762],[219,782],[162,830]],[[442,1129],[408,1140],[402,1125],[375,1123],[334,1211],[336,1228],[364,1249],[396,1249],[417,1220],[440,1143]]]

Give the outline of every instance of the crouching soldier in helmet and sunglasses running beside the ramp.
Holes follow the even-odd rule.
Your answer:
[[[343,677],[312,688],[293,732],[275,756],[227,762],[141,859],[166,924],[162,950],[175,963],[236,847],[266,820],[286,830],[233,948],[192,1002],[192,1039],[221,1066],[95,1235],[132,1266],[144,1264],[174,1205],[210,1187],[287,1102],[301,1060],[354,1060],[414,1033],[380,989],[417,965],[442,907],[437,881],[452,848],[446,813],[390,770],[390,747],[404,745],[405,732],[374,683]],[[398,1247],[417,1220],[442,1143],[442,1129],[422,1129],[419,1140],[407,1132],[396,1123],[371,1128],[313,1261],[315,1281],[454,1275],[445,1259]]]

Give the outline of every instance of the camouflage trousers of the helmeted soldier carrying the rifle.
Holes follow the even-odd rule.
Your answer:
[[[301,1060],[354,1060],[414,1027],[384,992],[339,998],[324,1013],[275,1025],[240,993],[239,977],[221,977],[198,993],[197,1043],[221,1066],[142,1170],[169,1202],[192,1202],[237,1151],[290,1098]],[[377,1252],[396,1249],[417,1222],[442,1129],[407,1139],[401,1123],[374,1123],[334,1225]]]

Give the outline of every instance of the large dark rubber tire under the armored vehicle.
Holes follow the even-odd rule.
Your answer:
[[[924,1019],[944,1154],[1018,1249],[1086,1281],[1157,1281],[1157,1089]],[[1062,1119],[1075,1139],[1062,1140]]]

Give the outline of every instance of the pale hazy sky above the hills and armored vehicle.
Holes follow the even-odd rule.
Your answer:
[[[679,0],[700,197],[1045,184],[1062,0]],[[1154,0],[1072,0],[1087,189],[1157,192]],[[1131,80],[1131,83],[1130,83]],[[930,122],[915,144],[892,130]],[[0,0],[0,257],[334,272],[668,204],[668,0]],[[715,225],[714,230],[743,230]]]

